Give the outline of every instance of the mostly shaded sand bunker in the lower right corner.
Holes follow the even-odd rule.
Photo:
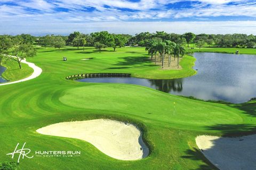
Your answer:
[[[221,170],[256,169],[256,134],[239,138],[202,135],[196,145]]]

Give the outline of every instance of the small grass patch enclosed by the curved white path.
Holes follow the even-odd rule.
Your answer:
[[[6,58],[3,59],[1,65],[6,67],[5,72],[2,74],[2,77],[5,80],[16,81],[26,77],[29,77],[33,73],[33,69],[27,64],[21,63],[21,69],[19,64],[13,60],[6,61]]]

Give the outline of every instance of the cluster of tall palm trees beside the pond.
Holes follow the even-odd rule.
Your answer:
[[[146,51],[151,55],[151,60],[153,60],[153,56],[155,55],[155,64],[156,64],[156,56],[159,55],[162,61],[162,67],[164,68],[164,59],[168,57],[168,65],[170,67],[171,57],[177,58],[177,66],[179,68],[180,56],[183,57],[185,55],[186,49],[180,44],[175,44],[170,40],[166,41],[151,41],[146,46]]]

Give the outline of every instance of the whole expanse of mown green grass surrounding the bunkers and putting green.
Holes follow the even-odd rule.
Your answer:
[[[68,58],[67,62],[62,57]],[[89,61],[82,58],[93,57]],[[178,78],[195,74],[194,57],[181,60],[184,70],[161,70],[147,60],[144,48],[39,48],[28,58],[43,69],[36,79],[0,88],[0,162],[18,142],[35,150],[79,150],[81,157],[22,159],[21,169],[215,169],[197,150],[200,134],[241,135],[255,132],[255,101],[228,105],[207,103],[132,84],[84,83],[68,75],[93,72],[132,73],[141,78]],[[175,115],[173,102],[175,101]],[[36,133],[43,126],[93,118],[128,120],[138,124],[151,148],[142,160],[121,161],[102,154],[85,141]]]

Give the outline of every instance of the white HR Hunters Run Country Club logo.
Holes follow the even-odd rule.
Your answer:
[[[6,155],[12,155],[12,159],[14,158],[14,155],[18,154],[18,163],[20,162],[20,159],[26,158],[33,158],[34,155],[36,157],[79,157],[81,156],[81,151],[71,151],[71,150],[36,150],[35,154],[33,156],[28,156],[28,154],[31,152],[30,149],[25,148],[26,142],[23,144],[21,149],[18,149],[20,143],[17,144],[14,151],[6,154]]]

